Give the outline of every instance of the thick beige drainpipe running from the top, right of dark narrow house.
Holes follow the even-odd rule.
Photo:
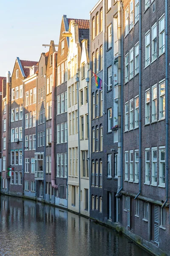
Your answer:
[[[120,197],[123,187],[123,3],[118,0],[118,187],[116,197]]]

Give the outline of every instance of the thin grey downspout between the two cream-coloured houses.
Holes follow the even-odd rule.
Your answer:
[[[78,106],[78,127],[79,127],[79,77],[76,74],[76,81],[77,81],[77,106]],[[80,129],[79,129],[80,130]],[[80,213],[80,131],[78,131],[78,147],[79,147],[79,213]]]

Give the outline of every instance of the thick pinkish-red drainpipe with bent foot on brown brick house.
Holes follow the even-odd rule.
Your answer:
[[[52,80],[52,119],[51,119],[51,185],[58,189],[55,183],[55,84],[56,84],[57,52],[53,53],[53,80]]]

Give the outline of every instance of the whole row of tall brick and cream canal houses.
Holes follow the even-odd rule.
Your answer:
[[[90,20],[63,15],[59,43],[0,79],[1,192],[91,217],[159,255],[170,255],[167,4],[99,0]]]

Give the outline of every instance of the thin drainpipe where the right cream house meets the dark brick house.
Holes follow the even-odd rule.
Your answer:
[[[91,205],[91,194],[90,194],[90,189],[91,189],[91,172],[90,172],[90,166],[91,166],[91,158],[90,158],[90,111],[89,111],[89,71],[88,70],[88,77],[86,78],[86,82],[88,84],[88,174],[89,174],[89,214],[90,214],[90,205]]]

